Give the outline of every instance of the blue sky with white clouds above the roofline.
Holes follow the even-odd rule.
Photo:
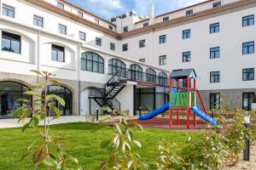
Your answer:
[[[150,3],[154,3],[154,14],[164,14],[206,0],[67,0],[105,20],[130,10],[139,15],[148,15]]]

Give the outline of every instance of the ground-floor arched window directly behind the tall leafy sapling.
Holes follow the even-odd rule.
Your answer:
[[[56,94],[65,100],[65,106],[60,105],[57,100],[55,101],[55,106],[61,111],[61,115],[72,115],[73,94],[68,88],[64,88],[61,86],[49,86],[48,94]],[[51,114],[54,115],[54,111],[52,111]]]

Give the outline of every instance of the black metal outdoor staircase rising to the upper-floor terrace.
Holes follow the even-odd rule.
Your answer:
[[[115,97],[125,88],[125,83],[127,82],[127,79],[119,77],[122,71],[123,69],[117,71],[108,82],[104,84],[103,88],[91,87],[89,99],[94,99],[96,104],[100,107],[107,105],[109,108],[120,111],[121,104]]]

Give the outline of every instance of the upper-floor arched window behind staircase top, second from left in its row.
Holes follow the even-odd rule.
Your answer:
[[[121,71],[119,71],[121,70]],[[126,65],[123,61],[120,59],[109,59],[108,60],[108,74],[113,75],[119,71],[118,76],[119,77],[126,77]]]

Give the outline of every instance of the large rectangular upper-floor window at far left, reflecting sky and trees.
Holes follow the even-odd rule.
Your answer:
[[[2,50],[20,54],[20,36],[2,31]]]

